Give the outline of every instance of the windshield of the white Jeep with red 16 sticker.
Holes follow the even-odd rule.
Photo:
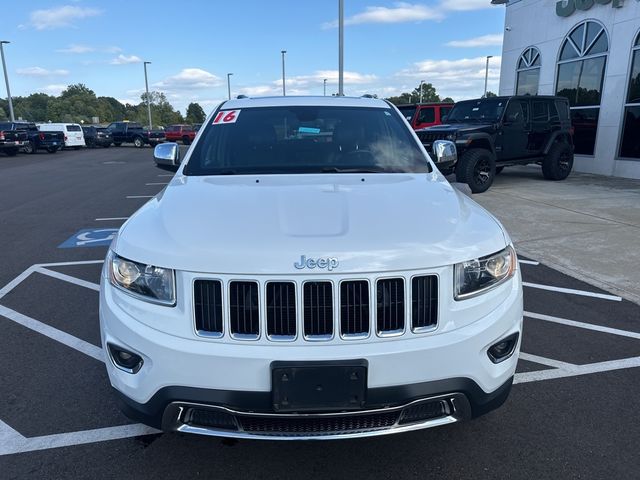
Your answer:
[[[217,112],[184,173],[429,171],[423,152],[390,108],[291,106]]]

